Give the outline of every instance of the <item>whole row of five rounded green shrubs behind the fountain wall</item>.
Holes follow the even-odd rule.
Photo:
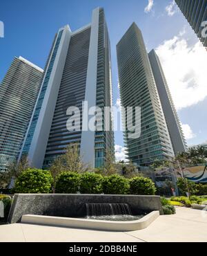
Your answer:
[[[49,171],[28,169],[21,173],[15,182],[14,192],[50,193],[54,185]],[[126,179],[117,174],[101,176],[93,172],[77,174],[61,172],[55,182],[56,193],[66,194],[142,194],[153,195],[155,184],[148,178],[137,176]]]

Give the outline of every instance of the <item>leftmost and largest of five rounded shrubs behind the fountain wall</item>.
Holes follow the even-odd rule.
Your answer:
[[[19,175],[14,185],[16,193],[50,193],[52,175],[49,171],[28,169]]]

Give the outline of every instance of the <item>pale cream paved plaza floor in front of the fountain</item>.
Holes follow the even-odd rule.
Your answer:
[[[132,232],[59,228],[30,224],[0,226],[0,241],[166,242],[207,241],[207,212],[176,208],[177,214],[158,217],[148,228]]]

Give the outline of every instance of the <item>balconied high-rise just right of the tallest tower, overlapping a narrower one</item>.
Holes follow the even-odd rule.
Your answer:
[[[172,159],[172,143],[157,86],[141,30],[135,23],[117,44],[117,60],[122,107],[141,107],[141,136],[129,138],[127,125],[124,132],[128,158],[142,166],[156,159]]]

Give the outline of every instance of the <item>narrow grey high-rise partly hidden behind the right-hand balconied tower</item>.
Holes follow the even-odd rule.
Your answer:
[[[181,123],[179,122],[179,117],[177,116],[177,111],[172,100],[170,89],[166,82],[166,77],[164,71],[161,67],[159,57],[153,49],[148,54],[150,64],[152,67],[152,73],[155,78],[155,83],[157,85],[157,91],[159,93],[159,98],[161,101],[161,106],[164,111],[164,116],[168,125],[168,131],[170,134],[170,139],[172,142],[172,147],[175,154],[186,151],[186,141],[184,138],[183,131],[181,129]]]

